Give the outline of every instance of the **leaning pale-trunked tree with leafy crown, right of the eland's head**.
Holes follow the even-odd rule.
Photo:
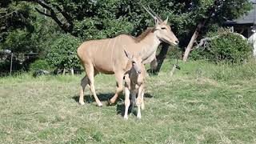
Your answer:
[[[200,1],[198,1],[200,4]],[[183,61],[186,62],[192,47],[194,46],[195,40],[198,38],[199,32],[202,30],[202,27],[206,25],[206,22],[218,22],[222,23],[223,20],[229,18],[238,18],[242,14],[245,14],[250,10],[251,5],[248,0],[214,0],[212,4],[204,4],[204,1],[201,1],[202,5],[202,15],[199,15],[200,20],[198,21],[198,26],[194,30],[194,34],[190,38],[190,42],[186,47]],[[206,6],[204,6],[206,5]],[[199,9],[200,10],[200,9]],[[210,21],[210,18],[213,18],[215,21]]]

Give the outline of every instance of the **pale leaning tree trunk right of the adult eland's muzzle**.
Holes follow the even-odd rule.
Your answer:
[[[206,20],[204,19],[202,22],[200,22],[197,26],[197,28],[194,30],[194,34],[192,38],[190,39],[189,45],[186,47],[184,56],[183,56],[183,62],[186,62],[187,58],[189,57],[190,51],[192,50],[192,47],[194,45],[195,40],[198,38],[199,31],[202,29],[202,26],[204,26],[206,23]]]

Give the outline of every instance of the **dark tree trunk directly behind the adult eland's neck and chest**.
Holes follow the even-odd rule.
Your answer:
[[[161,69],[162,62],[165,60],[167,52],[168,52],[168,47],[170,45],[167,43],[162,43],[162,49],[160,53],[156,56],[156,61],[152,61],[150,63],[150,70],[147,70],[150,74],[158,74],[158,72]]]

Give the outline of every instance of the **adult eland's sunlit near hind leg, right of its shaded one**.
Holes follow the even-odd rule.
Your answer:
[[[86,74],[89,79],[89,85],[90,85],[90,91],[92,94],[94,94],[94,99],[98,106],[102,106],[102,102],[99,101],[98,96],[96,94],[95,88],[94,88],[94,75],[97,74],[97,71],[94,70],[94,66],[92,65],[86,65]]]

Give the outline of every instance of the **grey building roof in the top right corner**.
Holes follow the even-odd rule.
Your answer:
[[[253,9],[241,18],[227,21],[227,25],[254,25],[256,24],[256,0],[250,0],[253,3]]]

